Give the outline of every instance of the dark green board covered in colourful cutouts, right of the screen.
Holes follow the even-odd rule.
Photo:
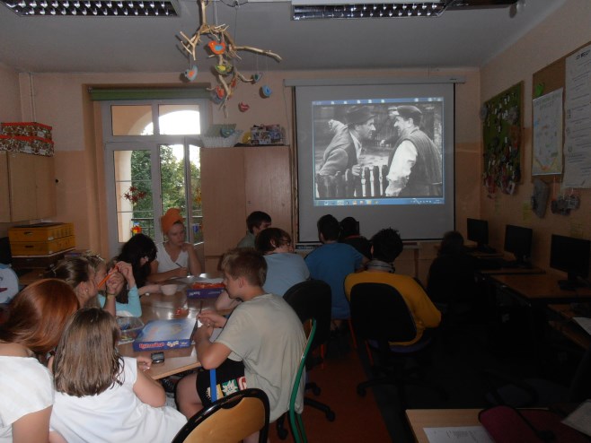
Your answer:
[[[523,82],[486,101],[481,117],[484,186],[489,194],[512,195],[521,181]]]

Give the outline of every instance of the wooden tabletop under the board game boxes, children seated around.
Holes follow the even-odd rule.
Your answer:
[[[171,319],[171,318],[195,318],[198,315],[200,301],[198,299],[187,299],[185,291],[178,291],[174,295],[150,294],[141,298],[142,303],[142,321],[144,324],[150,320]],[[203,300],[203,309],[212,309],[216,299]],[[187,313],[177,315],[178,308],[187,307]],[[119,345],[121,355],[128,357],[137,357],[145,355],[150,357],[150,351],[135,352],[133,343]],[[152,365],[152,368],[146,371],[154,379],[164,378],[178,374],[185,370],[195,369],[201,366],[197,358],[195,346],[189,348],[173,349],[164,351],[164,362]]]

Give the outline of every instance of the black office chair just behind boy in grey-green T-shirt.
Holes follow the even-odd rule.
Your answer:
[[[321,280],[307,280],[299,282],[289,288],[283,296],[289,306],[294,308],[297,317],[304,324],[306,321],[316,319],[316,333],[313,338],[311,352],[326,343],[331,334],[331,286]],[[322,359],[308,359],[306,369],[310,370]],[[306,383],[306,390],[311,389],[314,395],[320,395],[321,389],[315,383]],[[336,416],[327,404],[322,404],[310,397],[304,397],[304,404],[311,406],[326,415],[328,421],[334,421]],[[277,421],[277,432],[280,439],[287,438],[287,430],[284,427],[284,417]]]

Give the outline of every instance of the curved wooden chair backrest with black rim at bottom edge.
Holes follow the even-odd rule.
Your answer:
[[[266,442],[269,398],[260,389],[247,388],[193,415],[172,443],[238,443],[258,430],[259,442]]]

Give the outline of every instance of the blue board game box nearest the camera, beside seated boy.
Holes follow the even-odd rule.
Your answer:
[[[134,351],[163,351],[188,348],[191,344],[195,318],[152,320],[134,340]]]

